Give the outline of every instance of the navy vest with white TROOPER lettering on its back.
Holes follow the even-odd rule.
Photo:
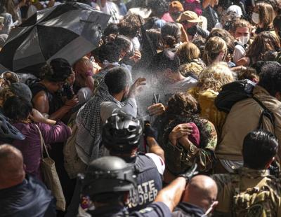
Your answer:
[[[129,211],[136,211],[147,207],[155,200],[162,189],[162,176],[159,174],[155,162],[145,153],[138,153],[134,163],[138,181],[137,192],[130,193]]]

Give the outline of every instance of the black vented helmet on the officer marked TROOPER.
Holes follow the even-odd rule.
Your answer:
[[[128,153],[138,147],[141,123],[124,112],[113,114],[103,126],[103,145],[115,153]]]

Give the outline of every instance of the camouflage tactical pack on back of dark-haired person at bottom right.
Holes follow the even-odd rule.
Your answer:
[[[239,174],[232,174],[231,183],[234,190],[232,216],[239,217],[270,217],[273,213],[274,201],[273,188],[268,186],[270,176],[263,179],[254,188],[248,188],[244,192],[240,191]],[[273,178],[274,179],[274,178]]]

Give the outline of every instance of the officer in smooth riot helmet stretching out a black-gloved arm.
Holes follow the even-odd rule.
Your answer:
[[[107,156],[98,158],[90,163],[82,181],[82,194],[89,195],[95,206],[93,211],[87,212],[91,216],[171,216],[186,183],[195,174],[195,167],[172,181],[169,186],[162,189],[155,202],[141,211],[129,214],[125,205],[129,199],[129,192],[136,190],[136,176],[134,167],[126,164],[121,158]]]

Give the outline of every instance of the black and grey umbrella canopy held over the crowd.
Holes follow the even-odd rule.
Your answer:
[[[39,10],[13,29],[0,52],[0,63],[11,71],[33,73],[51,59],[70,64],[98,46],[110,15],[84,3],[67,2]]]

